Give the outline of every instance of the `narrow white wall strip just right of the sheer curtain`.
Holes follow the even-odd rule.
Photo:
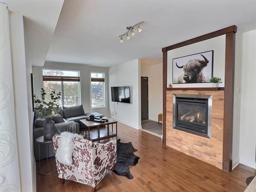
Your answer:
[[[32,125],[29,119],[27,72],[23,16],[10,13],[10,35],[12,71],[14,83],[15,122],[19,156],[20,188],[22,191],[35,190],[35,160],[33,154]],[[30,73],[29,73],[30,77]],[[30,79],[29,79],[30,82]],[[31,94],[30,94],[31,96]]]

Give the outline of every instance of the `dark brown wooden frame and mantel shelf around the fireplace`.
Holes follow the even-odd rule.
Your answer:
[[[224,91],[223,157],[222,169],[232,170],[232,130],[233,130],[233,93],[234,93],[234,57],[237,26],[230,26],[215,32],[195,37],[178,44],[162,48],[163,52],[163,144],[166,144],[166,91],[196,90]],[[203,40],[226,35],[225,48],[225,86],[224,88],[167,88],[167,52],[173,49],[195,44]]]

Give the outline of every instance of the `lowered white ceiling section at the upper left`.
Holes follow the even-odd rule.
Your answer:
[[[44,66],[64,0],[2,0],[10,11],[24,15],[26,56]]]

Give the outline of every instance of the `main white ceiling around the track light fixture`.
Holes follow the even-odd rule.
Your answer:
[[[42,10],[33,12],[48,21],[55,18],[57,13],[52,15],[52,11],[58,10],[61,1],[40,2],[44,2]],[[47,60],[113,66],[161,57],[161,48],[192,37],[230,25],[240,28],[254,23],[255,27],[255,12],[255,0],[65,0]],[[118,36],[125,27],[142,20],[143,31],[120,44]]]

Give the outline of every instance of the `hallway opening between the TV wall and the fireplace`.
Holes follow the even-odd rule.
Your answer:
[[[162,58],[141,59],[141,131],[162,137]]]

